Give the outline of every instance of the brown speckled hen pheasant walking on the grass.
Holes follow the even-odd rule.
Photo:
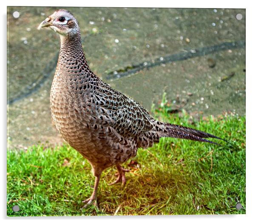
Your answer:
[[[51,115],[66,142],[84,156],[95,176],[91,197],[97,205],[97,188],[103,170],[116,165],[114,183],[125,184],[120,164],[136,156],[161,137],[211,142],[211,134],[155,120],[139,103],[114,90],[88,67],[76,18],[60,9],[46,18],[38,29],[49,27],[60,34],[60,54],[51,85]],[[214,142],[211,142],[214,143]],[[215,143],[216,144],[216,143]],[[113,183],[113,184],[114,184]],[[83,207],[85,207],[83,206]]]

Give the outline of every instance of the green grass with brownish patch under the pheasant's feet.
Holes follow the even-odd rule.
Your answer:
[[[223,146],[164,138],[153,148],[139,149],[138,164],[123,166],[126,185],[108,186],[115,168],[105,170],[98,204],[80,211],[91,195],[91,166],[73,148],[35,145],[27,151],[8,151],[7,215],[195,215],[245,214],[245,117],[222,115],[193,120],[170,115],[166,106],[156,117],[207,131],[227,139]],[[215,140],[216,142],[216,140]],[[236,203],[242,203],[241,210]],[[19,212],[12,207],[18,205]]]

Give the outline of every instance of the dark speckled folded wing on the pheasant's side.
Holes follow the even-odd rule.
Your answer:
[[[111,126],[125,138],[138,136],[154,127],[150,114],[139,103],[114,90],[97,76],[92,77],[95,90],[91,105],[94,105],[92,110],[95,112],[91,115],[95,124]]]

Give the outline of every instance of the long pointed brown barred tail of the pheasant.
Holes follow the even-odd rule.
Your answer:
[[[216,137],[212,134],[199,131],[193,128],[188,128],[182,125],[174,125],[170,123],[161,123],[159,121],[156,121],[153,130],[137,137],[137,143],[139,147],[148,148],[151,147],[154,144],[154,142],[159,142],[159,139],[161,137],[190,139],[199,142],[209,142],[215,145],[219,144],[216,142],[212,142],[206,138],[221,139],[224,140],[225,142],[228,142],[225,139]]]

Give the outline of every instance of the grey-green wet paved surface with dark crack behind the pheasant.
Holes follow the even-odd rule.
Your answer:
[[[59,36],[36,29],[55,9],[8,8],[9,148],[63,142],[49,109]],[[193,116],[223,111],[245,114],[245,9],[67,9],[79,21],[91,70],[147,109],[166,92],[174,109],[182,106]],[[20,13],[18,18],[14,11]],[[236,19],[237,14],[242,14],[242,20]],[[239,41],[238,47],[217,47]],[[156,63],[182,53],[193,55],[205,47],[216,50]],[[138,64],[147,67],[148,61],[152,67],[119,78]],[[114,78],[108,78],[110,73]]]

